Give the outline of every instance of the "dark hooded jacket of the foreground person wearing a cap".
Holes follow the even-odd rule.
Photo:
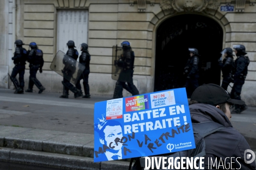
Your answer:
[[[199,103],[189,105],[189,110],[192,123],[213,121],[226,127],[222,130],[210,134],[209,136],[204,137],[206,151],[206,156],[204,157],[205,169],[208,169],[208,159],[211,160],[212,158],[212,160],[215,161],[215,158],[217,158],[218,165],[220,158],[224,164],[227,157],[235,157],[235,159],[232,159],[232,168],[239,169],[241,166],[240,170],[256,169],[255,161],[253,161],[251,164],[246,164],[244,162],[244,151],[250,149],[250,146],[244,139],[244,136],[242,136],[235,128],[233,128],[231,122],[223,113],[223,111],[219,110],[215,106]],[[230,159],[226,159],[226,167],[229,166],[230,162]],[[222,167],[220,168],[222,169]]]

